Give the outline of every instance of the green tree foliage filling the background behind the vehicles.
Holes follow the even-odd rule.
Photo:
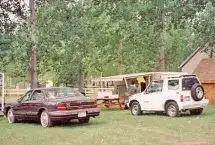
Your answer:
[[[58,84],[77,83],[83,71],[87,77],[116,75],[120,55],[123,73],[159,68],[164,29],[169,71],[215,40],[213,3],[201,0],[45,0],[37,16],[39,79]],[[10,77],[27,76],[28,29],[0,37],[0,66]],[[117,54],[120,47],[123,53]]]

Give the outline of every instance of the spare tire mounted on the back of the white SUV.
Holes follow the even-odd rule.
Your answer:
[[[194,101],[201,101],[204,98],[204,88],[200,84],[194,84],[191,88],[191,96]]]

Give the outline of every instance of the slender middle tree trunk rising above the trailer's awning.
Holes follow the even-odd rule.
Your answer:
[[[118,74],[123,74],[123,39],[119,41],[117,52],[117,72]]]

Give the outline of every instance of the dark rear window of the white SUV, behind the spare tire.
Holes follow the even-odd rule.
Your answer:
[[[189,91],[191,90],[192,86],[194,84],[199,84],[199,81],[197,78],[183,78],[182,79],[182,90],[183,91]]]

